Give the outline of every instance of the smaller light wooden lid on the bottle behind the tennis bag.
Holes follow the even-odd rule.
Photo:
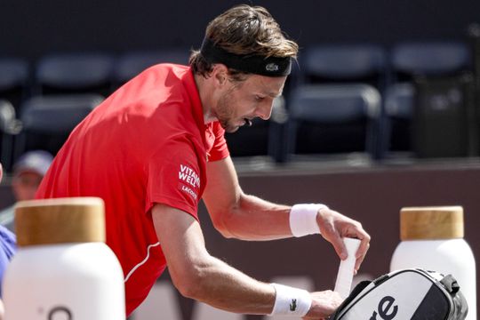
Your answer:
[[[463,207],[405,207],[400,211],[401,240],[463,237]]]

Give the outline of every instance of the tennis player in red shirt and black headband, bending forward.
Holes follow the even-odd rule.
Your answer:
[[[342,236],[370,237],[322,204],[293,208],[245,195],[223,137],[282,94],[297,44],[261,7],[240,5],[212,20],[190,67],[157,65],[92,111],[53,161],[37,197],[100,196],[107,244],[124,268],[127,314],[168,265],[184,296],[245,314],[319,319],[337,292],[266,284],[212,257],[197,218],[201,198],[223,236],[273,240],[321,232],[345,259]]]

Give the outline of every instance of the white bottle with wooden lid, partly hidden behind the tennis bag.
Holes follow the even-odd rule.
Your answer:
[[[463,239],[461,206],[411,207],[400,212],[401,243],[390,271],[424,268],[451,274],[468,303],[466,320],[476,320],[476,267],[470,246]]]

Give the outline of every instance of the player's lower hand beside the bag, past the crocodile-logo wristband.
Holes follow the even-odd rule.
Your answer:
[[[324,292],[312,292],[312,306],[308,311],[307,316],[304,316],[304,320],[322,320],[331,316],[337,308],[340,307],[343,299],[340,297],[339,292],[332,292],[332,290],[326,290]]]

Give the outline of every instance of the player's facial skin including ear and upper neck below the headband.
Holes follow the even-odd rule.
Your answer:
[[[226,132],[236,132],[244,124],[252,124],[255,117],[268,120],[285,80],[286,76],[249,75],[235,82],[224,65],[215,65],[210,77],[196,76],[205,123],[218,120]]]

